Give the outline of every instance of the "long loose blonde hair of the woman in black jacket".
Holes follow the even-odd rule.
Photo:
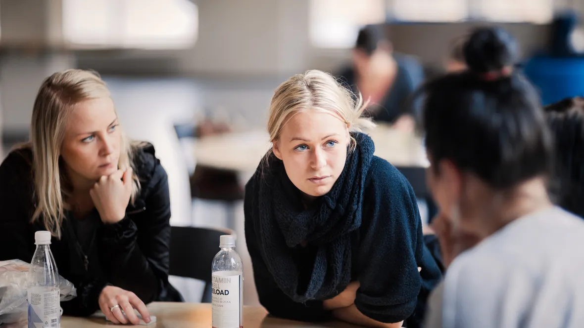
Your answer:
[[[34,100],[30,122],[30,141],[21,147],[33,153],[34,198],[36,209],[32,222],[42,220],[55,237],[61,238],[64,199],[70,196],[67,174],[60,165],[61,144],[65,136],[67,118],[75,104],[85,100],[111,97],[98,73],[89,70],[67,69],[47,77]],[[135,167],[133,145],[121,133],[118,167]],[[133,174],[131,202],[140,191],[138,177]]]

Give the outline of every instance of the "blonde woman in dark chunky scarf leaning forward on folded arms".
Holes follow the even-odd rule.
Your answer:
[[[245,189],[255,283],[274,316],[417,327],[440,279],[412,187],[357,132],[371,125],[362,110],[318,70],[274,92],[273,147]]]

